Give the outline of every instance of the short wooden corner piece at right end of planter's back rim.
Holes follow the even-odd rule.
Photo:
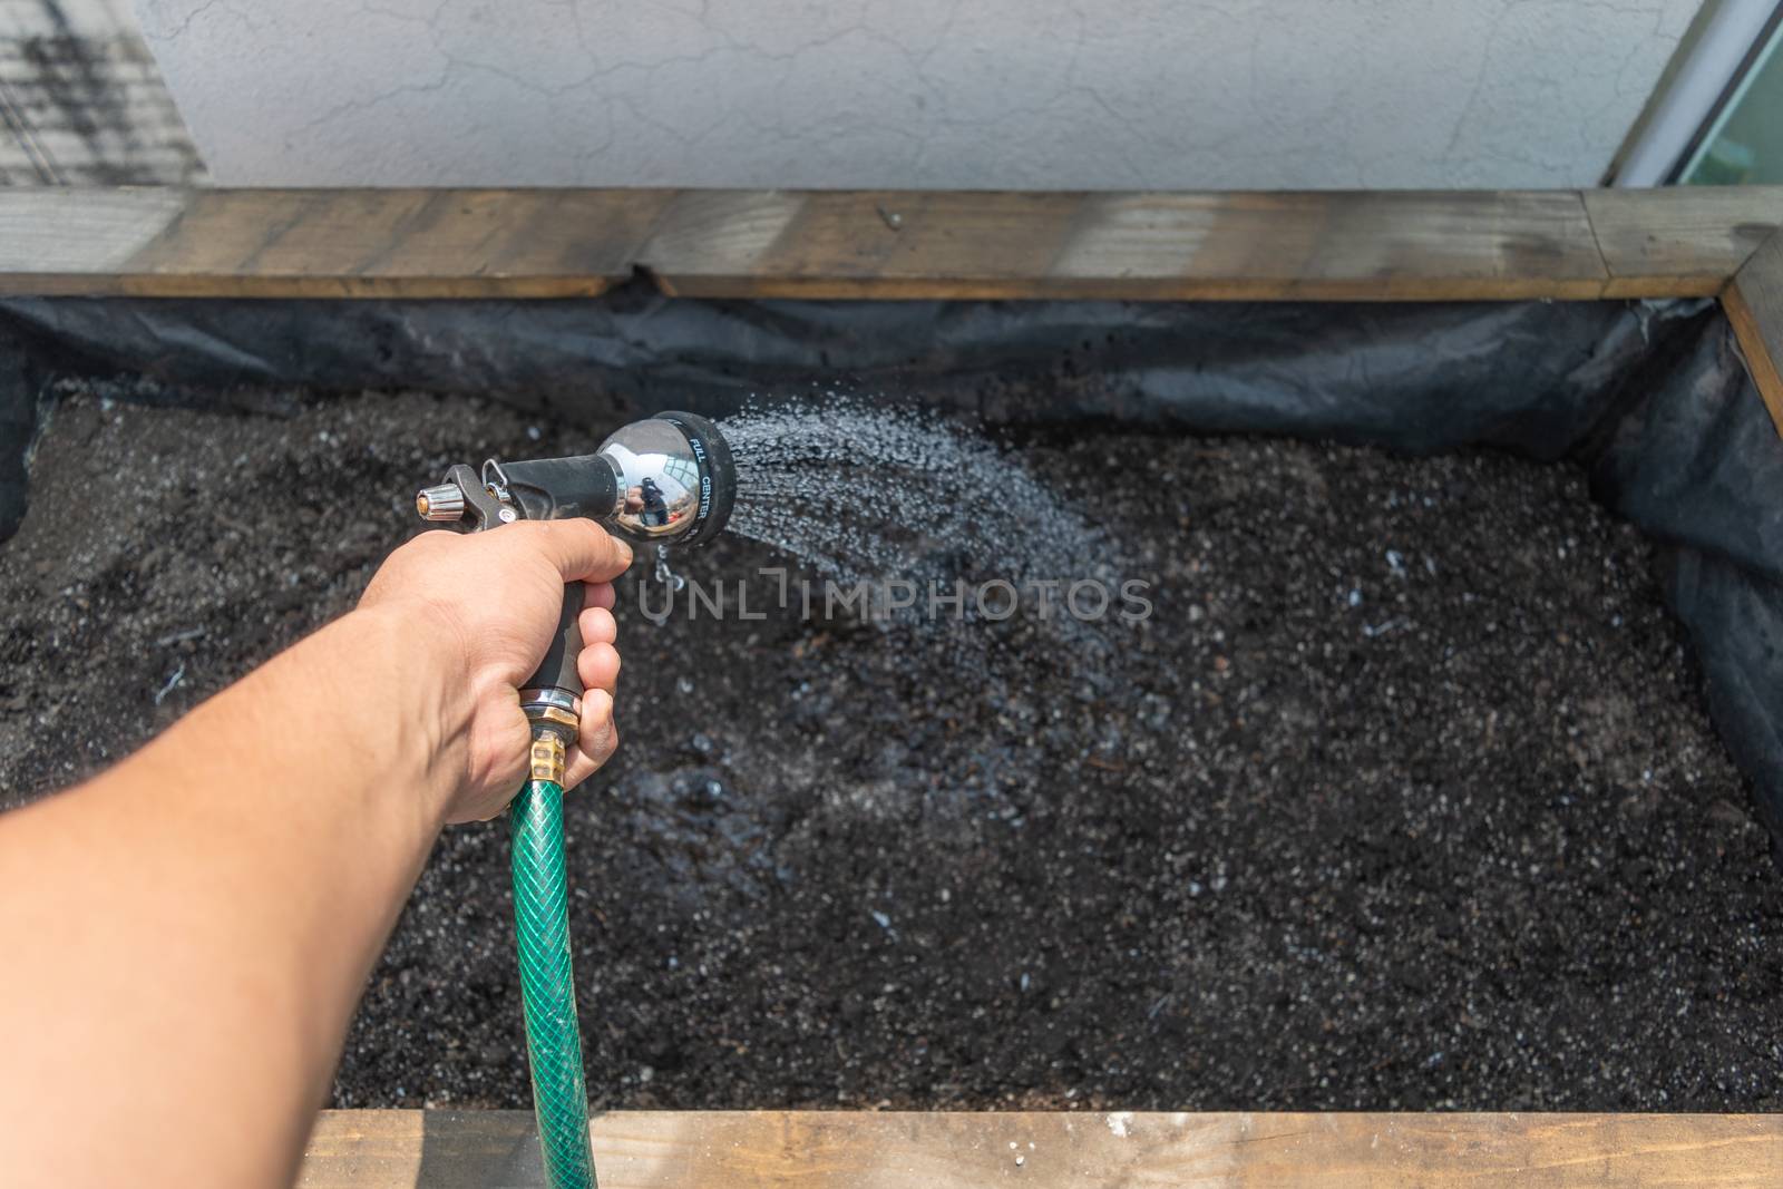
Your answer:
[[[1712,298],[1783,225],[1783,185],[1585,191],[1606,298]]]

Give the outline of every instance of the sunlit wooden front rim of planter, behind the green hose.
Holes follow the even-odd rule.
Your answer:
[[[604,1189],[1475,1189],[1783,1184],[1783,1116],[626,1111]],[[542,1185],[514,1111],[330,1111],[305,1189]]]

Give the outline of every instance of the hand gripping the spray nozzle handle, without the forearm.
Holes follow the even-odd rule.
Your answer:
[[[440,645],[444,672],[428,679],[446,693],[444,734],[462,736],[440,743],[462,743],[464,752],[448,822],[496,816],[526,779],[531,726],[519,688],[551,645],[565,583],[588,586],[576,661],[587,688],[565,786],[588,779],[613,754],[619,624],[612,579],[629,565],[631,547],[592,521],[521,521],[487,533],[423,533],[378,567],[358,606],[398,611]]]

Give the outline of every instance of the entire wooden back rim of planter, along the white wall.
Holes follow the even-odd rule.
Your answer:
[[[1715,191],[0,191],[0,292],[1464,301],[1715,292]]]

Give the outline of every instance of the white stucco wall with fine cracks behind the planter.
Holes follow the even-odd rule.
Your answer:
[[[137,0],[219,184],[1589,185],[1699,0]]]

